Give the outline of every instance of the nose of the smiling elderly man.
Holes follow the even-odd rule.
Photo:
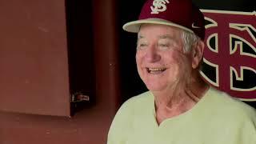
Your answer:
[[[158,62],[161,59],[161,56],[160,56],[160,54],[158,54],[157,47],[150,46],[146,50],[145,58],[146,58],[147,62]]]

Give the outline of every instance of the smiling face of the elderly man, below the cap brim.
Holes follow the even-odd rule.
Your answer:
[[[183,53],[182,30],[164,25],[142,25],[138,32],[138,74],[151,91],[185,86],[190,79],[191,54]]]

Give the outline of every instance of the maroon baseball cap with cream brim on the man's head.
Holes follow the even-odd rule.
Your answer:
[[[147,0],[138,20],[127,22],[123,30],[138,33],[142,24],[175,26],[205,37],[205,20],[202,12],[191,0]]]

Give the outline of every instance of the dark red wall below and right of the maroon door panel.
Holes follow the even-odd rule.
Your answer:
[[[103,144],[118,108],[114,0],[94,2],[95,104],[72,118],[0,112],[0,144]],[[29,103],[28,103],[29,105]]]

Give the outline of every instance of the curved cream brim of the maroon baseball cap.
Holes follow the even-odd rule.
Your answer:
[[[122,29],[131,33],[138,33],[140,26],[142,24],[159,24],[159,25],[166,25],[166,26],[174,26],[182,30],[186,30],[191,33],[194,33],[192,30],[186,28],[185,26],[181,26],[174,22],[166,21],[160,18],[147,18],[147,19],[137,20],[133,22],[127,22],[125,25],[122,26]]]

